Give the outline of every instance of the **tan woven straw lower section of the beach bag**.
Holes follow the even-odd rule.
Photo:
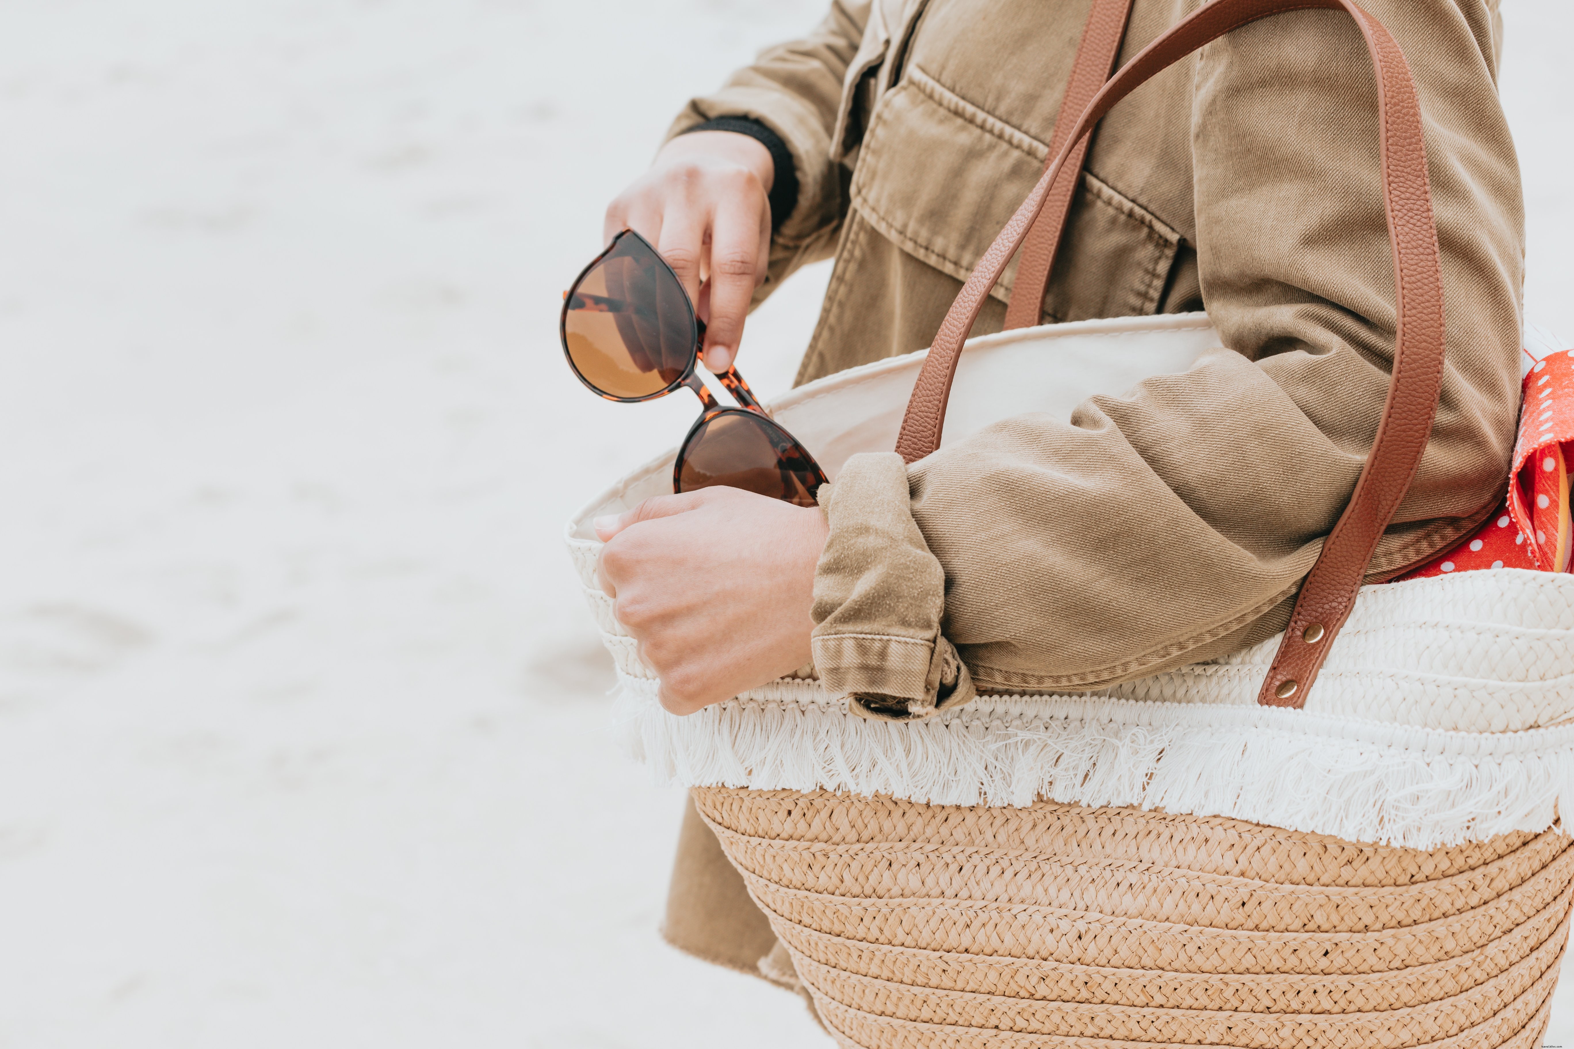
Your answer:
[[[699,788],[842,1046],[1533,1049],[1554,827],[1434,851],[1226,818]]]

